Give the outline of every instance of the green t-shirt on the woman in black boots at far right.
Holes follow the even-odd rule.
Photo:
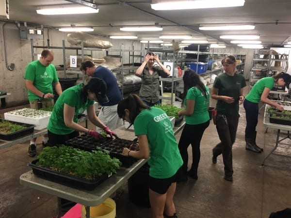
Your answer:
[[[260,97],[264,89],[268,88],[271,90],[274,86],[274,83],[275,80],[273,77],[265,77],[259,79],[252,87],[251,91],[246,95],[245,99],[250,102],[259,103]]]

